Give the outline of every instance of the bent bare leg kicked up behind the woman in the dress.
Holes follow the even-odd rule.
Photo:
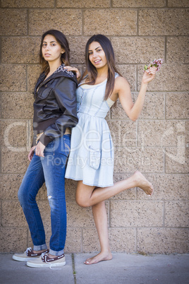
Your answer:
[[[89,207],[102,202],[112,196],[124,191],[126,189],[131,189],[132,187],[140,187],[145,194],[151,196],[153,192],[153,186],[148,180],[141,174],[141,172],[135,172],[128,179],[116,182],[111,187],[90,187],[83,184],[83,181],[78,182],[78,187],[76,191],[76,201],[78,205],[82,207]]]

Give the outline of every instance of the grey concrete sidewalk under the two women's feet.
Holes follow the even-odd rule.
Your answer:
[[[87,266],[94,254],[66,254],[66,266],[59,269],[30,268],[0,254],[0,283],[35,284],[188,284],[189,254],[142,256],[114,253],[111,261]]]

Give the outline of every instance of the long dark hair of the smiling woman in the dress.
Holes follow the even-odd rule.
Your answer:
[[[104,50],[104,53],[106,55],[106,61],[109,67],[108,70],[108,78],[106,83],[106,91],[104,95],[104,100],[107,100],[107,98],[111,95],[111,93],[114,90],[114,83],[115,83],[115,72],[118,73],[121,76],[121,73],[116,69],[115,65],[115,57],[114,57],[114,49],[111,45],[111,41],[108,37],[105,35],[92,35],[90,39],[87,41],[87,45],[85,47],[85,61],[87,66],[87,84],[94,85],[96,79],[97,79],[97,69],[92,65],[89,59],[89,46],[92,42],[99,42],[99,44],[102,46],[102,49]],[[80,79],[80,81],[83,80],[83,77]]]

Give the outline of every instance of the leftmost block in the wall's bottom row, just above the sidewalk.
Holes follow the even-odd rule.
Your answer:
[[[28,228],[1,227],[1,252],[24,252],[28,247]]]

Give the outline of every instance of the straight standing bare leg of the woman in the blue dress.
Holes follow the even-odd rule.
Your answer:
[[[97,227],[97,232],[99,235],[99,243],[101,251],[96,256],[86,259],[84,264],[97,264],[99,261],[106,261],[112,259],[112,254],[109,247],[109,233],[107,226],[107,214],[106,206],[104,201],[97,203],[92,206],[92,213],[94,218],[94,223]]]

